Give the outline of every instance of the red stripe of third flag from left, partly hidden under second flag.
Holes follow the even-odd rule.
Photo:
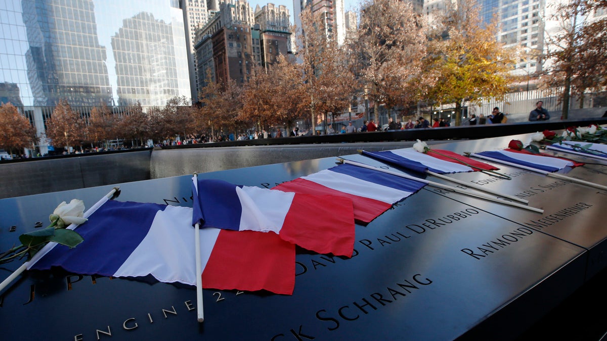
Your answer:
[[[272,189],[278,189],[279,191],[283,192],[337,195],[339,197],[350,198],[354,206],[354,219],[363,221],[365,223],[369,223],[371,220],[377,218],[380,214],[392,207],[392,204],[384,203],[384,201],[337,191],[336,189],[322,186],[322,184],[317,184],[314,181],[305,180],[302,178],[296,178],[293,181],[279,184]]]

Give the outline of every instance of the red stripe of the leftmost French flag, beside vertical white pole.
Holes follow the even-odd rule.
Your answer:
[[[202,273],[202,286],[291,295],[295,245],[272,232],[222,230]]]

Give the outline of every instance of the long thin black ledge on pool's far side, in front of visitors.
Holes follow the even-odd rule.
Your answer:
[[[161,149],[211,148],[234,146],[268,146],[279,144],[316,144],[316,143],[355,143],[384,141],[431,141],[431,140],[476,140],[479,138],[518,135],[538,131],[561,130],[571,126],[589,126],[607,124],[607,118],[585,118],[581,120],[555,120],[540,122],[481,124],[476,126],[440,127],[407,130],[388,130],[382,132],[357,132],[320,136],[299,136],[281,138],[261,138],[257,140],[225,141],[212,143],[182,144],[163,146]]]

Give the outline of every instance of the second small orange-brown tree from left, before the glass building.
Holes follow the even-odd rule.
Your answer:
[[[66,100],[59,100],[47,121],[46,136],[53,146],[64,146],[70,153],[70,147],[82,147],[86,124],[80,113],[74,112]]]

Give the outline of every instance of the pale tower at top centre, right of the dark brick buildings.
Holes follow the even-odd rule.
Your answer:
[[[325,34],[333,39],[337,39],[338,44],[343,44],[346,35],[344,0],[293,0],[294,22],[297,27],[296,35],[301,35],[302,33],[301,14],[308,7],[312,8],[314,14],[322,15]]]

